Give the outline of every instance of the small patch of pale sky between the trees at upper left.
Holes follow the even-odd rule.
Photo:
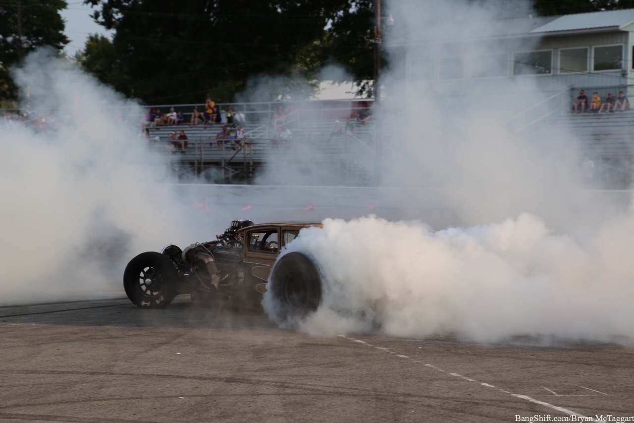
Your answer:
[[[61,17],[66,22],[64,31],[70,43],[64,49],[68,57],[73,57],[77,50],[82,50],[89,34],[104,34],[110,32],[96,24],[90,17],[93,9],[83,4],[83,0],[68,1],[68,8],[61,11]]]

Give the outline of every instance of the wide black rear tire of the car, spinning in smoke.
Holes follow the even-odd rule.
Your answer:
[[[270,290],[277,318],[302,318],[320,305],[321,277],[313,260],[302,253],[288,253],[271,272]]]

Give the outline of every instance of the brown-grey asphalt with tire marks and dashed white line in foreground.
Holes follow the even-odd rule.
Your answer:
[[[184,299],[163,310],[112,300],[3,307],[0,316],[1,421],[634,415],[634,354],[614,344],[310,337],[258,312]]]

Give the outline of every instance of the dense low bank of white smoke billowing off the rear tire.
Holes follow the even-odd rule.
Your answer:
[[[298,328],[316,335],[631,343],[634,264],[623,247],[632,236],[631,217],[583,242],[550,232],[529,214],[436,232],[373,216],[327,219],[288,247],[312,257],[323,280],[320,308]],[[275,306],[270,295],[265,299]]]

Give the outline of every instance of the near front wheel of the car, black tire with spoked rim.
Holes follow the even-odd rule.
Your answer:
[[[178,290],[178,272],[169,257],[147,252],[126,266],[123,286],[127,297],[142,309],[161,309],[171,303]]]

